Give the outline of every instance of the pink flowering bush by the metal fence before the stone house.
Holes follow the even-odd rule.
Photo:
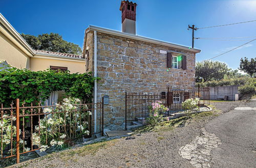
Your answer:
[[[148,106],[150,111],[150,116],[147,118],[146,122],[152,126],[158,125],[164,121],[163,114],[169,109],[165,107],[161,101],[156,101]]]

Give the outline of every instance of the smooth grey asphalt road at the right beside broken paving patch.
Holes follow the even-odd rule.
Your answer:
[[[256,100],[246,106],[256,107]],[[231,110],[205,129],[222,142],[211,152],[211,167],[256,167],[256,110]]]

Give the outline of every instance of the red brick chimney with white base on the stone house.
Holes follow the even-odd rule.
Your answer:
[[[136,35],[136,3],[121,1],[122,32]]]

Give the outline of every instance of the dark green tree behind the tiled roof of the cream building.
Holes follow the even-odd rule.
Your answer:
[[[33,48],[39,50],[81,54],[81,48],[74,43],[65,41],[57,33],[41,34],[38,36],[20,34],[26,42]]]

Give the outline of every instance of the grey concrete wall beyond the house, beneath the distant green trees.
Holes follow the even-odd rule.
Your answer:
[[[235,100],[235,94],[238,94],[238,86],[210,87],[210,100],[224,99]]]

